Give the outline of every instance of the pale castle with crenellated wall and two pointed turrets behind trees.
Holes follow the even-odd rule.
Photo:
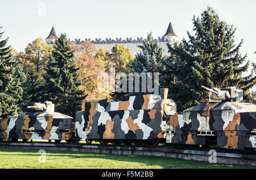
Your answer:
[[[49,33],[49,36],[46,38],[46,43],[49,46],[52,46],[55,44],[55,41],[57,40],[57,35],[55,32],[54,27],[52,27],[51,32]],[[130,49],[131,54],[135,55],[139,52],[141,52],[141,49],[138,48],[139,45],[143,45],[143,41],[144,39],[141,37],[137,37],[137,40],[133,40],[132,38],[126,38],[126,40],[122,40],[122,38],[106,38],[106,40],[101,40],[101,38],[96,38],[96,40],[90,40],[85,38],[85,41],[89,40],[90,42],[93,43],[93,45],[96,46],[97,50],[100,48],[104,48],[106,50],[109,50],[111,52],[111,49],[113,48],[113,46],[118,43],[119,45],[124,45],[126,48]],[[71,42],[75,42],[76,44],[81,44],[82,42],[85,42],[84,40],[80,40],[75,38],[75,41],[71,41]],[[168,53],[168,48],[167,48],[167,42],[174,42],[177,41],[177,36],[174,33],[174,29],[172,28],[172,24],[171,22],[168,25],[167,31],[166,33],[163,35],[163,37],[158,37],[158,43],[159,45],[161,45],[164,49],[164,54],[166,55]]]

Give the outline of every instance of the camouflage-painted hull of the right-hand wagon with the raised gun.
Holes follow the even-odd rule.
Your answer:
[[[231,91],[232,100],[199,104],[168,116],[167,143],[205,145],[215,136],[220,147],[256,148],[256,105],[242,103],[237,92],[239,96]]]

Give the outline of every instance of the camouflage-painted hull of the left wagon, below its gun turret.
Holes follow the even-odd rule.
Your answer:
[[[0,119],[0,139],[71,139],[75,119],[57,112],[33,110]]]

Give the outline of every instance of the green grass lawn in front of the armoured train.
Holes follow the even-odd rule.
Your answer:
[[[0,168],[245,168],[250,166],[210,164],[171,157],[110,155],[46,151],[45,162],[38,150],[0,149]],[[41,162],[39,162],[41,161]]]

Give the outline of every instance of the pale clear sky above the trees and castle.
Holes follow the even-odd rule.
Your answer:
[[[218,15],[237,27],[236,42],[242,38],[241,52],[256,62],[256,1],[207,1],[207,0],[23,0],[1,1],[0,27],[9,37],[9,45],[16,51],[24,51],[27,44],[37,37],[45,39],[54,23],[57,36],[62,32],[68,38],[137,37],[146,38],[152,32],[162,37],[171,20],[174,32],[181,40],[192,32],[193,15],[211,5]]]

